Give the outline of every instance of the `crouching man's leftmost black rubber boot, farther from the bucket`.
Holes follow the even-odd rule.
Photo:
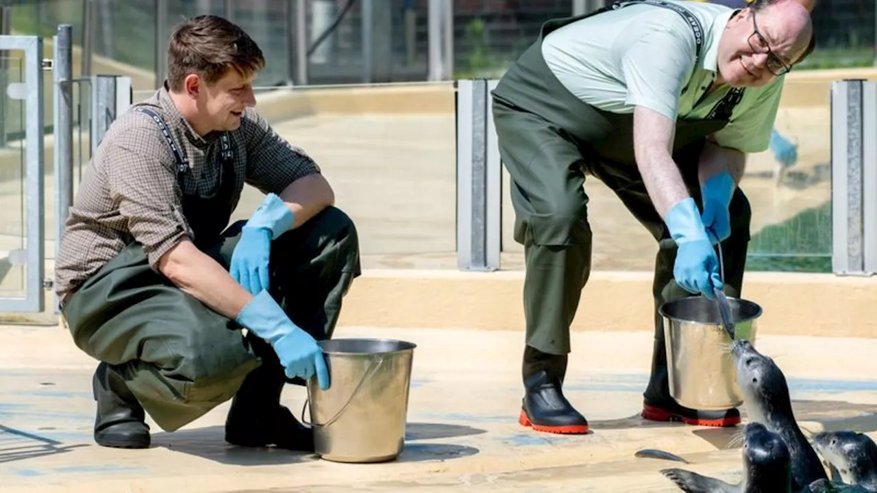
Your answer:
[[[97,445],[148,448],[151,439],[146,412],[116,370],[102,361],[91,379],[91,387],[97,403]]]

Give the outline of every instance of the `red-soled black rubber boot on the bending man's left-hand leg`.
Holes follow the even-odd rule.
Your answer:
[[[524,349],[524,400],[518,422],[538,432],[584,434],[588,420],[575,411],[561,387],[567,373],[567,355]]]

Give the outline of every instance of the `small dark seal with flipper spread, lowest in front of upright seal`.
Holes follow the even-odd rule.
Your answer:
[[[791,456],[779,434],[760,423],[748,423],[743,429],[743,479],[731,484],[680,468],[661,469],[660,473],[688,493],[788,493],[792,491],[789,471]]]

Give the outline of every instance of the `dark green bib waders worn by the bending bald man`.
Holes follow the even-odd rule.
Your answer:
[[[667,6],[660,1],[648,3]],[[584,189],[588,175],[612,189],[658,241],[652,285],[652,375],[645,389],[645,403],[664,409],[678,406],[669,396],[664,332],[657,309],[690,293],[674,282],[675,242],[638,172],[632,146],[632,115],[601,111],[581,102],[554,77],[541,53],[542,39],[549,32],[611,8],[545,23],[537,42],[503,75],[492,93],[500,155],[511,178],[511,202],[516,213],[514,238],[524,245],[525,252],[523,372],[528,397],[524,398],[521,422],[543,431],[587,431],[587,420],[568,406],[562,395],[533,397],[530,404],[528,399],[538,389],[558,387],[554,391],[560,392],[566,372],[569,326],[590,273],[592,237]],[[710,119],[680,118],[677,122],[674,161],[699,205],[697,166],[703,143],[710,133],[727,125],[739,96],[735,90],[728,91]],[[730,211],[731,237],[723,243],[725,282],[729,294],[739,296],[751,218],[748,201],[739,189],[731,200]],[[561,404],[540,411],[538,402]],[[528,405],[533,409],[528,411]],[[709,424],[709,419],[697,420]]]

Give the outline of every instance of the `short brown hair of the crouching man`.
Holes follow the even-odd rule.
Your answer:
[[[174,28],[168,43],[168,86],[182,90],[186,75],[213,83],[233,68],[248,77],[265,67],[256,42],[238,25],[218,16],[198,16]]]

